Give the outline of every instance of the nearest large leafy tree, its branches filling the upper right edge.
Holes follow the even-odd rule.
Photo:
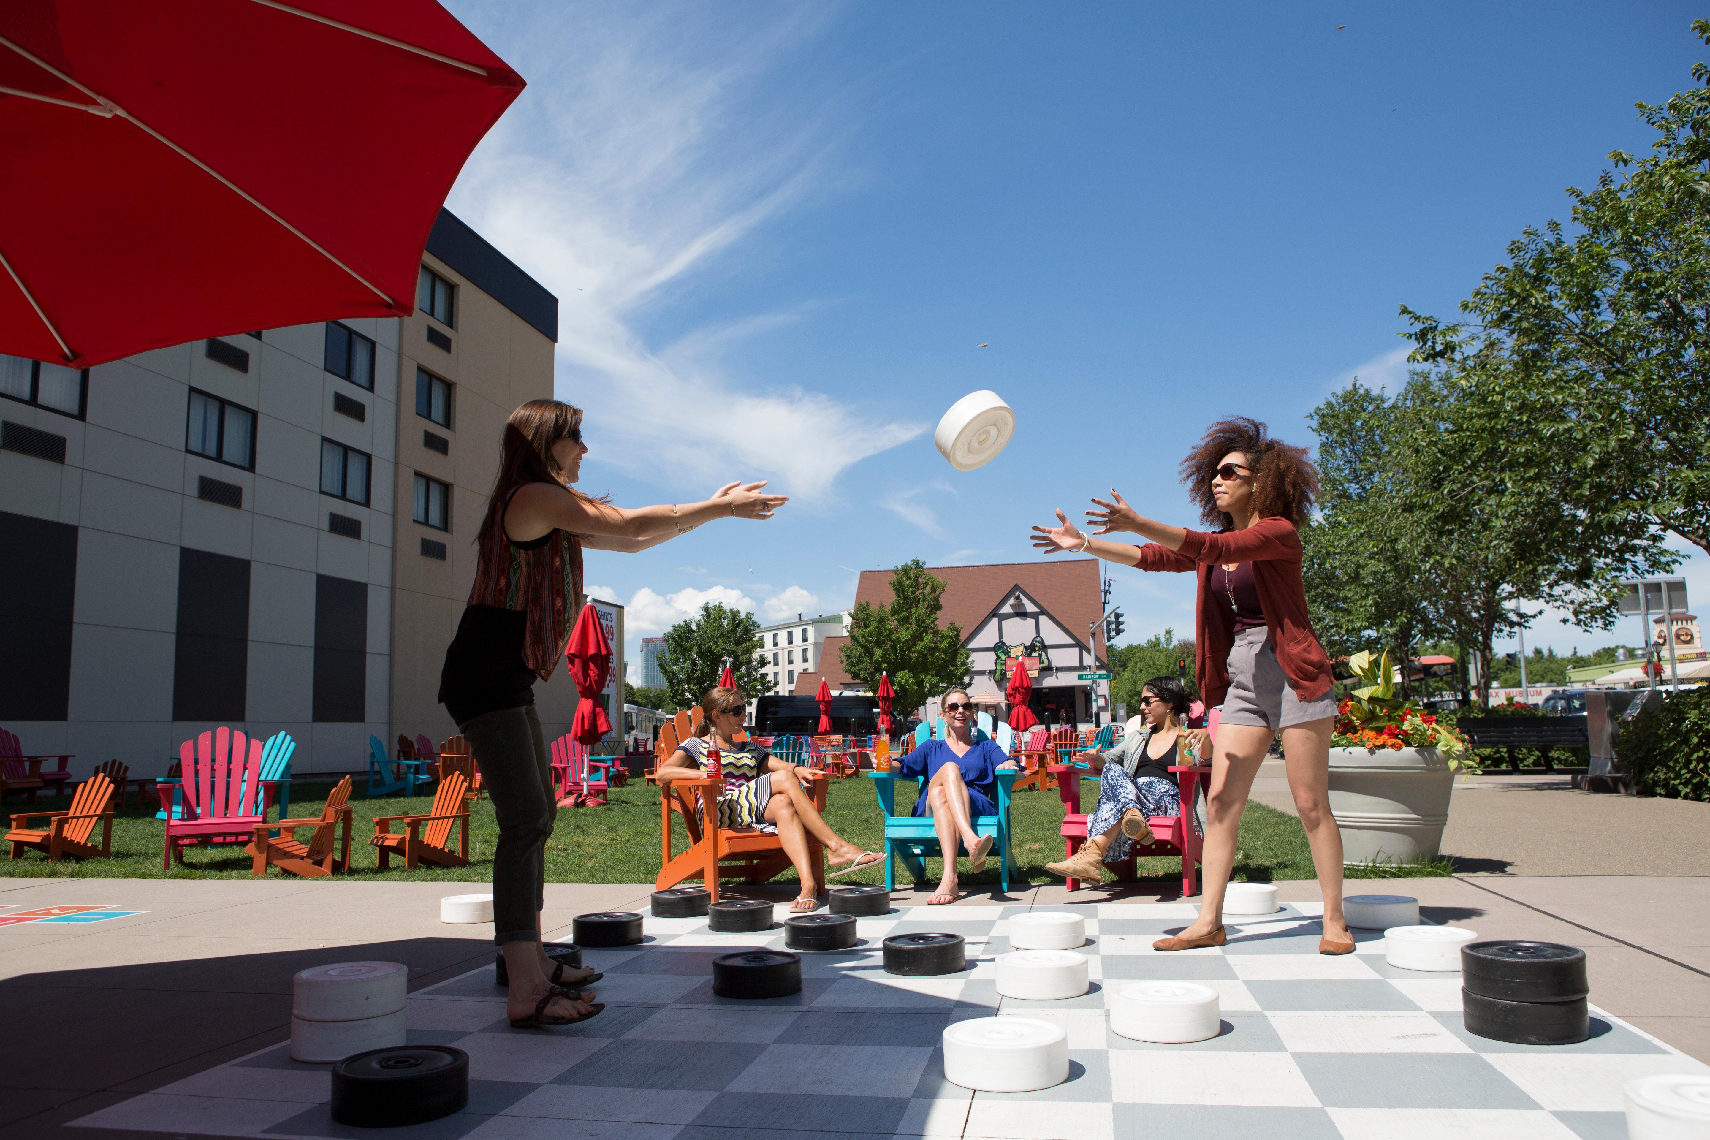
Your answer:
[[[1693,31],[1710,43],[1710,22]],[[1710,68],[1638,104],[1652,154],[1621,150],[1571,224],[1527,227],[1445,323],[1402,306],[1414,361],[1450,362],[1498,453],[1553,504],[1554,532],[1710,552]],[[1503,367],[1459,367],[1498,356]],[[1609,598],[1604,600],[1606,610]]]

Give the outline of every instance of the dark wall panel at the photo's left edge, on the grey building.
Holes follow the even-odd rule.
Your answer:
[[[77,528],[0,511],[0,721],[62,721],[72,699]]]

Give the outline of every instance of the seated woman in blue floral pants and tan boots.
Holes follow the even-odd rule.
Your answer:
[[[1178,738],[1187,735],[1195,755],[1211,754],[1211,735],[1183,728],[1187,687],[1175,677],[1153,677],[1141,690],[1141,714],[1129,721],[1129,733],[1110,752],[1082,752],[1098,778],[1098,807],[1086,817],[1086,843],[1062,863],[1045,870],[1065,879],[1101,882],[1105,863],[1120,863],[1134,844],[1151,846],[1147,820],[1182,812],[1182,790],[1170,773]],[[1064,779],[1074,779],[1064,774]]]

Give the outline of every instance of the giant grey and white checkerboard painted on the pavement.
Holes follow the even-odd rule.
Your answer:
[[[1359,931],[1356,954],[1320,955],[1317,908],[1308,904],[1231,925],[1224,947],[1178,954],[1158,954],[1151,943],[1185,926],[1194,904],[1076,908],[1088,916],[1091,991],[1065,1002],[1000,998],[992,959],[1009,949],[1007,920],[1024,909],[908,908],[864,918],[855,950],[804,954],[802,991],[766,1002],[715,996],[711,961],[740,947],[783,949],[781,926],[716,935],[705,918],[648,918],[645,943],[585,952],[588,966],[605,971],[597,990],[607,1008],[556,1031],[510,1029],[486,966],[410,995],[412,1043],[469,1051],[470,1104],[409,1133],[1614,1140],[1626,1135],[1624,1082],[1710,1072],[1602,1012],[1582,1044],[1476,1037],[1460,1024],[1459,974],[1395,969],[1371,931]],[[879,940],[908,931],[964,935],[970,967],[944,978],[886,974]],[[1223,1032],[1194,1044],[1112,1034],[1106,996],[1127,979],[1149,978],[1216,988]],[[1019,1094],[946,1082],[944,1027],[994,1014],[1062,1024],[1069,1080]],[[327,1067],[299,1065],[280,1044],[77,1123],[241,1137],[376,1135],[333,1123],[327,1099]]]

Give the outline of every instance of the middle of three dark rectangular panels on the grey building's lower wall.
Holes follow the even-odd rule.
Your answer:
[[[178,552],[178,643],[173,720],[248,720],[250,561]]]

